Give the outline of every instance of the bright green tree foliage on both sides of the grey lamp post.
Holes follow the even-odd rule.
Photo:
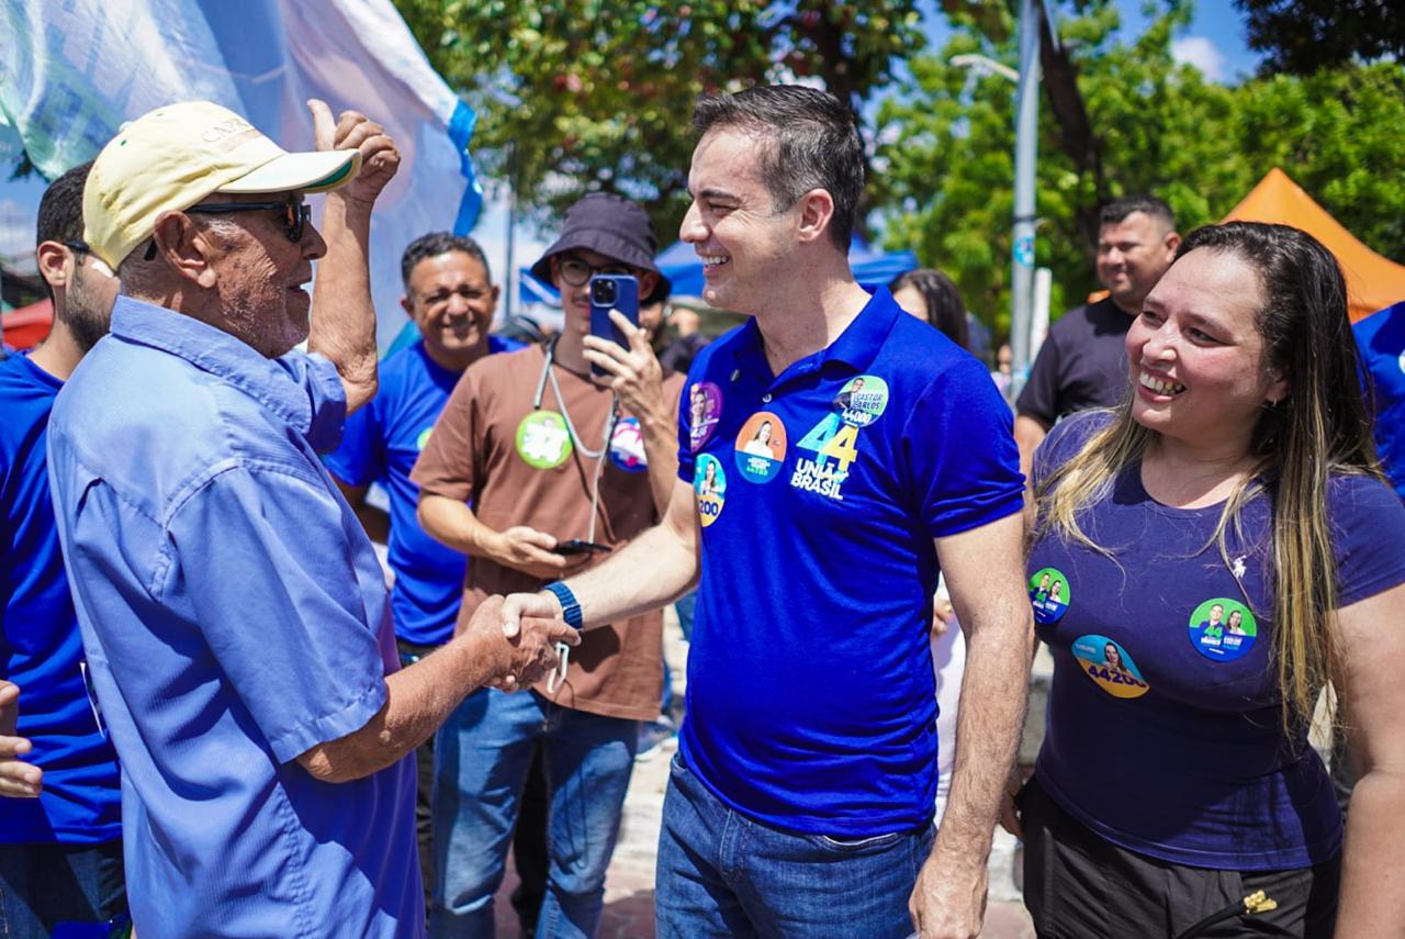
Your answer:
[[[875,200],[889,247],[912,247],[946,270],[967,305],[1009,329],[1013,214],[1014,86],[950,65],[979,52],[1017,66],[1014,37],[992,39],[950,11],[947,46],[910,62],[910,80],[877,119]],[[1176,65],[1173,31],[1189,4],[1162,15],[1135,41],[1118,41],[1117,10],[1090,0],[1059,20],[1078,69],[1111,197],[1149,191],[1176,211],[1182,232],[1222,218],[1280,166],[1361,240],[1405,257],[1405,67],[1347,65],[1311,77],[1272,76],[1238,87],[1208,83]],[[1096,181],[1058,146],[1061,128],[1041,101],[1037,263],[1054,271],[1057,316],[1099,284],[1086,225]]]

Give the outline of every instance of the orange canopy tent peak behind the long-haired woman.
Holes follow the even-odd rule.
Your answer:
[[[1352,322],[1405,299],[1405,267],[1357,240],[1279,167],[1269,170],[1224,221],[1291,225],[1322,242],[1346,274]]]

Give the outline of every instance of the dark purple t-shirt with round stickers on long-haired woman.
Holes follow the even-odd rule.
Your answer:
[[[1035,485],[1109,420],[1059,423]],[[1035,775],[1090,829],[1152,857],[1228,870],[1326,860],[1342,845],[1336,797],[1307,728],[1283,734],[1270,661],[1269,499],[1231,526],[1227,565],[1213,541],[1221,506],[1163,506],[1139,469],[1079,517],[1113,557],[1055,536],[1030,552],[1031,596],[1045,578],[1062,595],[1057,616],[1047,603],[1035,616],[1054,655]],[[1405,507],[1385,484],[1333,477],[1328,514],[1339,606],[1405,582]]]

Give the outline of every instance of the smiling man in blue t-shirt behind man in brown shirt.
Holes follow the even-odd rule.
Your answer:
[[[420,488],[410,469],[464,370],[489,353],[521,349],[521,343],[488,333],[499,288],[483,249],[472,239],[448,232],[414,239],[400,257],[400,305],[420,339],[381,363],[375,398],[347,417],[341,446],[325,462],[367,534],[389,548],[395,641],[400,661],[412,665],[452,638],[466,558],[424,534],[414,517]],[[389,516],[367,502],[372,482],[385,489]],[[414,759],[414,825],[427,900],[434,888],[433,737]]]

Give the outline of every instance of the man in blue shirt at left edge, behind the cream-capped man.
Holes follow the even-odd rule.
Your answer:
[[[0,363],[0,679],[24,692],[13,732],[31,748],[3,768],[13,787],[0,791],[37,796],[0,801],[4,936],[48,936],[62,922],[108,922],[126,909],[117,753],[89,704],[45,455],[53,398],[107,333],[117,294],[111,271],[83,245],[90,166],[56,179],[39,202],[35,254],[53,302],[49,336]]]

